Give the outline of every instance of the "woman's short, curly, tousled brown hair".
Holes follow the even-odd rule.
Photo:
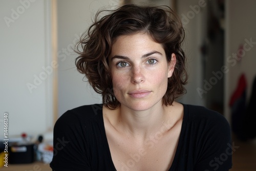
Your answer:
[[[100,17],[103,12],[109,14]],[[171,105],[175,98],[186,93],[186,57],[181,49],[184,29],[177,14],[167,6],[124,5],[115,10],[101,10],[94,23],[84,32],[76,45],[77,70],[85,74],[95,92],[102,94],[102,103],[109,109],[116,109],[120,103],[115,98],[112,76],[108,63],[112,45],[121,35],[145,32],[161,44],[167,61],[176,55],[176,65],[163,96],[163,104]]]

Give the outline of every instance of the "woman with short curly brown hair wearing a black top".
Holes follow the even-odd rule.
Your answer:
[[[76,66],[103,105],[63,114],[53,170],[228,170],[226,119],[175,99],[184,94],[184,30],[168,7],[125,5],[99,17],[78,45]]]

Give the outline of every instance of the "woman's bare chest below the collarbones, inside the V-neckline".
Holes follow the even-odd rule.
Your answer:
[[[113,132],[107,132],[107,137],[117,171],[168,170],[179,141],[179,133],[164,135],[157,132],[143,143]]]

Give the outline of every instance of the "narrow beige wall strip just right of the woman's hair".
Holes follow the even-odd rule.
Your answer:
[[[198,0],[177,1],[177,13],[181,18],[185,29],[185,39],[183,50],[188,62],[188,83],[186,85],[187,93],[180,100],[183,103],[205,105],[205,96],[200,97],[197,92],[198,88],[202,87],[202,57],[200,47],[205,36],[205,28],[203,25],[207,3],[204,7],[200,7],[195,13],[190,6],[198,6]],[[188,18],[187,16],[190,16]]]

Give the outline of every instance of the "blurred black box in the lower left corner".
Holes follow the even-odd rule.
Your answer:
[[[34,144],[11,145],[9,147],[10,164],[25,164],[34,162]]]

